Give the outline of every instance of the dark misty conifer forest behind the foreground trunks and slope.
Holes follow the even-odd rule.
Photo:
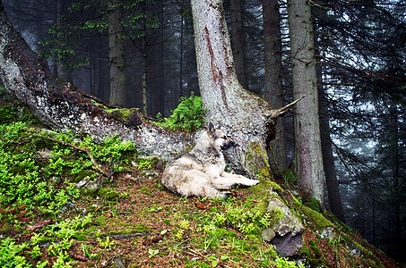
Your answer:
[[[192,92],[199,96],[190,3],[116,2],[3,1],[13,25],[31,48],[48,59],[60,80],[113,105],[167,117],[181,96]],[[267,64],[274,64],[273,83],[281,84],[284,104],[290,103],[286,1],[225,0],[223,4],[240,83],[272,104],[264,60],[265,54],[272,54],[272,63]],[[267,18],[274,21],[278,38],[270,37],[264,26],[264,7],[270,5],[273,13]],[[118,14],[114,28],[112,13]],[[326,194],[324,204],[331,208],[339,201],[343,222],[404,262],[406,3],[315,1],[312,16],[321,130],[332,149],[323,151],[324,169],[338,182],[341,194],[334,200]],[[117,37],[113,45],[112,35]],[[271,38],[272,46],[264,46],[266,38]],[[109,55],[117,48],[124,57],[112,63]],[[114,65],[121,72],[112,71]],[[124,95],[114,99],[110,88],[124,88]],[[279,124],[284,135],[278,141],[285,149],[278,154],[285,159],[273,161],[275,172],[289,168],[294,153],[292,114]]]

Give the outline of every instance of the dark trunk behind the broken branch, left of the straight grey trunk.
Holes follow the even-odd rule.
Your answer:
[[[263,0],[263,46],[265,60],[265,98],[272,107],[283,105],[281,82],[281,14],[276,0]],[[270,144],[272,170],[286,168],[285,123],[279,118],[276,138]]]

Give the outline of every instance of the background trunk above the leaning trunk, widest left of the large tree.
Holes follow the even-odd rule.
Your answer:
[[[125,106],[126,75],[125,75],[125,47],[122,35],[123,8],[120,0],[112,0],[108,8],[108,57],[110,70],[110,105]],[[121,38],[120,38],[121,36]]]

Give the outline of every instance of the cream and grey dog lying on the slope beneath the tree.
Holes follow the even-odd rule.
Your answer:
[[[233,140],[209,123],[194,148],[168,164],[162,173],[162,185],[182,197],[225,199],[230,193],[220,190],[228,190],[235,184],[259,183],[259,180],[224,172],[226,162],[222,151],[234,147],[237,144]]]

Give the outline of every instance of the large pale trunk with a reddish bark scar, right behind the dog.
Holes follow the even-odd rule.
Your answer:
[[[248,93],[238,83],[221,1],[193,0],[192,13],[199,88],[207,119],[238,143],[228,155],[234,168],[261,180],[270,170],[266,145],[274,138],[275,119],[286,110],[272,111],[262,97]]]

